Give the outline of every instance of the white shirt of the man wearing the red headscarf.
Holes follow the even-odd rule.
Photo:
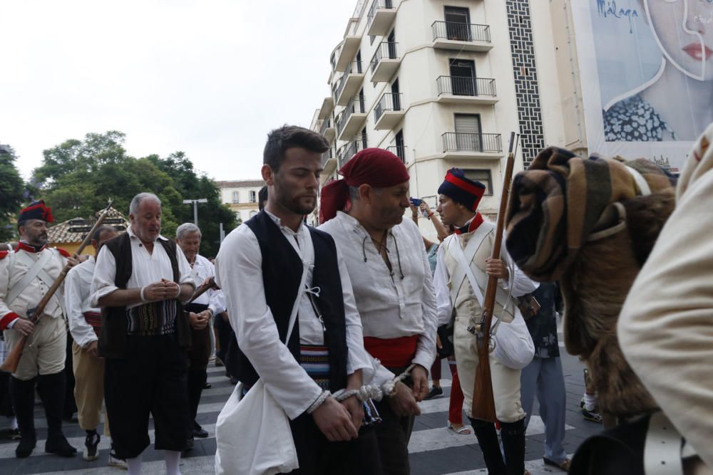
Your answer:
[[[436,355],[436,295],[424,239],[416,224],[404,219],[389,231],[384,244],[391,271],[369,233],[349,214],[337,212],[318,229],[331,234],[342,251],[364,336],[391,339],[419,335],[412,362],[429,370]],[[381,365],[375,368],[374,383],[379,386],[394,377]]]

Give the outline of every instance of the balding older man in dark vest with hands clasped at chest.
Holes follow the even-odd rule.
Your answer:
[[[180,451],[190,439],[190,327],[180,302],[193,295],[195,283],[183,251],[160,235],[155,194],[137,194],[129,219],[126,233],[99,251],[91,289],[91,306],[102,307],[98,350],[106,360],[111,436],[129,475],[140,474],[153,415],[155,448],[165,450],[167,474],[178,475]]]

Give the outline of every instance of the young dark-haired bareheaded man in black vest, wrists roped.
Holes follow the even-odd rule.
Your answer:
[[[361,387],[361,370],[371,370],[349,276],[332,238],[302,221],[317,204],[328,147],[302,127],[270,132],[262,166],[267,206],[222,242],[216,278],[239,346],[231,372],[246,387],[261,379],[291,419],[299,461],[291,473],[379,473],[378,466],[356,468],[378,456],[376,447],[356,457],[355,443],[344,443],[357,437],[361,402],[332,397]],[[303,268],[306,286],[285,344]]]

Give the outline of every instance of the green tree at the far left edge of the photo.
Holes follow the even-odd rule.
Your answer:
[[[0,145],[0,242],[16,238],[16,219],[25,191],[25,182],[15,167],[14,150]]]

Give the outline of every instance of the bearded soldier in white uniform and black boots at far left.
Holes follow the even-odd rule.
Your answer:
[[[67,330],[62,316],[62,289],[44,308],[38,323],[30,321],[32,311],[66,263],[76,261],[63,249],[47,247],[47,223],[52,212],[42,200],[22,209],[17,220],[20,241],[14,251],[0,251],[0,329],[11,351],[28,336],[17,370],[10,378],[10,397],[20,428],[19,458],[29,456],[37,438],[34,425],[35,382],[47,418],[45,451],[60,456],[77,453],[62,433],[65,397],[64,362]]]

